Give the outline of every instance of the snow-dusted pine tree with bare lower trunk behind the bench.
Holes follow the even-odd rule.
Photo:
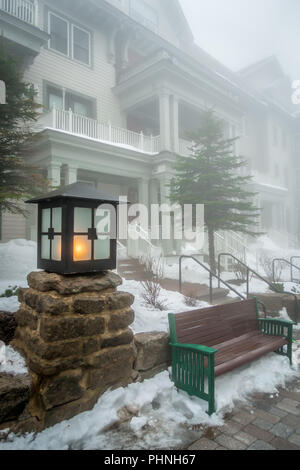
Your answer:
[[[247,165],[235,155],[238,138],[224,136],[223,121],[213,110],[203,112],[201,127],[189,137],[194,142],[191,155],[177,159],[170,200],[181,205],[204,205],[209,262],[216,272],[215,233],[232,230],[257,235],[259,209],[253,204],[255,193],[245,189],[252,177],[241,176],[238,171]]]

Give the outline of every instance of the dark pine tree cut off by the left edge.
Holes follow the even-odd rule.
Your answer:
[[[35,90],[24,82],[19,64],[0,44],[0,80],[6,104],[0,104],[0,212],[24,214],[20,201],[45,191],[39,168],[26,163],[37,134],[33,130],[39,105]]]

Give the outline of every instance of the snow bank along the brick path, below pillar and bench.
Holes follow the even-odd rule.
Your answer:
[[[298,364],[299,365],[299,364]],[[192,426],[223,424],[225,412],[251,394],[276,394],[279,386],[299,377],[287,358],[270,354],[216,380],[217,413],[206,414],[207,403],[177,391],[168,372],[143,383],[106,392],[93,410],[39,434],[0,442],[0,450],[170,449],[178,448]],[[128,421],[120,424],[120,416]]]

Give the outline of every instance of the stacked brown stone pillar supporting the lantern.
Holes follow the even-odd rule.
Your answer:
[[[27,411],[41,428],[91,409],[108,388],[132,381],[133,296],[112,272],[63,276],[33,272],[20,289],[13,347],[33,383]]]

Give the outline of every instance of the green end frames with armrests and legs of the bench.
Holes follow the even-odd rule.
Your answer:
[[[286,352],[284,347],[275,352],[281,356],[287,356],[292,365],[293,326],[295,323],[281,319],[259,318],[257,301],[256,313],[259,331],[265,335],[281,336],[288,340]],[[169,314],[172,381],[177,388],[184,390],[189,395],[206,400],[208,414],[212,415],[215,412],[215,354],[218,350],[199,344],[178,343],[174,317],[175,314]],[[207,391],[205,391],[206,378]]]

